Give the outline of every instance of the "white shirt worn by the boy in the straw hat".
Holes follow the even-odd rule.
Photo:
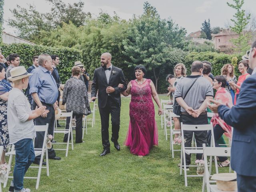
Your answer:
[[[23,92],[17,88],[9,91],[7,105],[7,122],[10,144],[19,140],[36,137],[33,120],[28,120],[31,114],[30,104]]]

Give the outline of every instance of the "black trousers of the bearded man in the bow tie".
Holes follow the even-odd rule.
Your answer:
[[[109,142],[109,114],[111,114],[111,124],[112,124],[112,137],[111,140],[118,143],[118,134],[120,130],[120,106],[119,104],[108,96],[107,104],[104,108],[99,108],[100,119],[101,119],[101,137],[102,145],[104,149],[110,148]]]

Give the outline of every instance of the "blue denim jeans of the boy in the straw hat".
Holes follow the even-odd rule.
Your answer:
[[[14,145],[16,151],[13,171],[14,191],[20,191],[23,188],[24,175],[35,159],[35,153],[32,139],[22,139]]]

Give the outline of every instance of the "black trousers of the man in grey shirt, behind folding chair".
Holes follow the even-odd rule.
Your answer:
[[[204,125],[208,124],[207,114],[200,115],[198,118],[192,117],[190,114],[181,114],[180,120],[183,124],[188,125]],[[196,139],[196,146],[202,147],[203,144],[206,144],[206,135],[207,131],[184,131],[184,139],[186,140],[184,146],[191,147],[191,142],[193,138],[193,132]],[[186,164],[191,164],[191,154],[186,154]],[[202,159],[202,154],[196,154],[196,159]],[[183,161],[182,161],[183,162]]]

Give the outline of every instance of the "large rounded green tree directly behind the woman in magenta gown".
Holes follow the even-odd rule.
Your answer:
[[[181,62],[186,46],[186,31],[171,19],[162,20],[156,8],[144,3],[144,14],[134,17],[128,28],[128,37],[123,40],[125,63],[129,67],[143,64],[153,72],[156,90],[158,80],[165,70]]]

